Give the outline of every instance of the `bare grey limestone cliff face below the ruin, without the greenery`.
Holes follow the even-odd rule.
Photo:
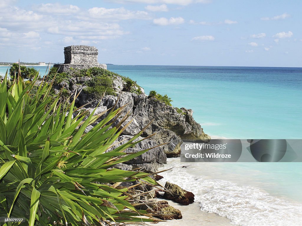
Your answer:
[[[125,138],[131,139],[152,121],[141,135],[142,137],[152,136],[144,140],[136,148],[129,149],[130,151],[136,152],[164,144],[146,152],[132,160],[132,162],[127,162],[127,164],[132,164],[135,168],[143,167],[145,170],[156,172],[157,168],[165,163],[165,156],[168,158],[180,156],[180,146],[183,140],[194,142],[210,140],[210,137],[203,132],[201,126],[194,121],[191,109],[181,108],[179,110],[155,98],[149,98],[144,93],[138,95],[121,91],[125,87],[125,82],[119,76],[113,78],[113,88],[118,96],[108,95],[100,100],[93,100],[92,96],[82,91],[86,87],[85,82],[89,79],[91,78],[72,77],[69,81],[64,81],[57,85],[56,89],[64,86],[69,89],[70,93],[75,93],[77,90],[77,93],[80,93],[76,99],[76,105],[78,107],[86,105],[85,108],[97,107],[95,114],[114,107],[119,98],[115,108],[124,106],[124,110],[119,118],[113,120],[113,126],[119,124],[127,113],[129,117],[122,123],[122,126],[130,123],[122,132],[123,136],[118,139],[119,141]],[[103,118],[105,116],[106,114]],[[92,126],[95,126],[98,121]],[[86,130],[89,131],[92,126],[86,128]]]

